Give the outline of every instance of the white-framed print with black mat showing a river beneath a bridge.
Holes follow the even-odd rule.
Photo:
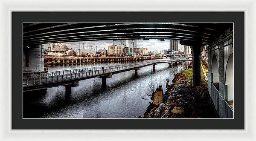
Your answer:
[[[9,113],[3,140],[35,140],[32,132],[50,140],[53,132],[61,140],[255,140],[251,7],[59,11],[12,4],[3,4],[3,81],[10,82],[1,98]]]

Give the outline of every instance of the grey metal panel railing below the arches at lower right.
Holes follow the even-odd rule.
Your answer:
[[[220,118],[233,118],[234,111],[227,101],[220,95],[218,89],[211,83],[211,93],[213,104]],[[221,103],[221,104],[220,104]]]

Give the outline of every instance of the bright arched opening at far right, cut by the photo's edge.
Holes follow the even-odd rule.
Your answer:
[[[234,100],[234,62],[233,54],[227,61],[225,85],[227,85],[227,101]]]

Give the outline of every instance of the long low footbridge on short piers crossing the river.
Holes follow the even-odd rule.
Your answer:
[[[47,89],[55,86],[66,86],[66,93],[70,93],[71,87],[78,86],[79,81],[81,80],[99,77],[102,78],[102,86],[105,86],[106,78],[111,78],[112,75],[116,73],[134,70],[135,75],[137,75],[137,72],[141,67],[153,65],[153,71],[155,71],[155,65],[157,65],[157,63],[169,63],[169,65],[172,66],[173,63],[177,64],[184,61],[192,61],[192,59],[147,60],[116,66],[70,69],[44,73],[41,75],[28,75],[23,78],[23,92]]]

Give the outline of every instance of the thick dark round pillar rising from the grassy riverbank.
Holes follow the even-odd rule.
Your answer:
[[[200,60],[200,46],[192,46],[193,52],[193,62],[192,62],[192,73],[193,73],[193,81],[192,86],[200,86],[201,85],[201,60]]]

